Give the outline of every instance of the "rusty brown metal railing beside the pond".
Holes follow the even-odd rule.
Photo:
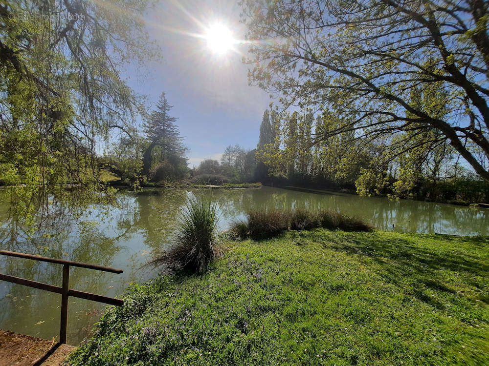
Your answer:
[[[112,272],[112,273],[122,273],[122,269],[116,269],[112,267],[104,267],[97,264],[80,263],[73,261],[65,261],[63,259],[55,259],[48,257],[41,257],[33,254],[9,252],[7,250],[0,250],[1,255],[6,255],[10,257],[19,257],[25,259],[32,259],[34,261],[63,264],[63,284],[61,287],[44,284],[42,282],[36,282],[31,280],[26,280],[20,277],[9,276],[0,273],[0,281],[8,281],[18,285],[24,285],[34,288],[39,288],[44,291],[55,292],[61,294],[61,322],[60,322],[60,342],[61,344],[66,343],[66,333],[67,333],[67,320],[68,320],[68,297],[77,297],[80,299],[86,299],[91,301],[97,301],[99,303],[122,306],[124,301],[120,299],[115,299],[113,297],[107,297],[102,295],[92,294],[90,292],[78,291],[69,288],[69,267],[82,267],[89,269],[96,269],[99,271]]]

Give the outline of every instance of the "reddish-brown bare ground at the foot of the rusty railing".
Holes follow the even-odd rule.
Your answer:
[[[67,355],[76,349],[74,346],[60,345],[45,361],[41,362],[46,353],[54,346],[56,344],[52,340],[48,341],[0,329],[0,366],[32,366],[34,364],[59,366]]]

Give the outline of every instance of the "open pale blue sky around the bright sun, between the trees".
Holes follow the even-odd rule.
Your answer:
[[[148,97],[151,110],[162,91],[189,147],[189,166],[219,159],[229,144],[255,148],[263,111],[271,101],[249,86],[245,45],[216,55],[205,40],[195,37],[216,22],[225,24],[236,39],[245,29],[234,1],[161,1],[147,14],[150,38],[161,48],[162,60],[131,67],[129,85]]]

